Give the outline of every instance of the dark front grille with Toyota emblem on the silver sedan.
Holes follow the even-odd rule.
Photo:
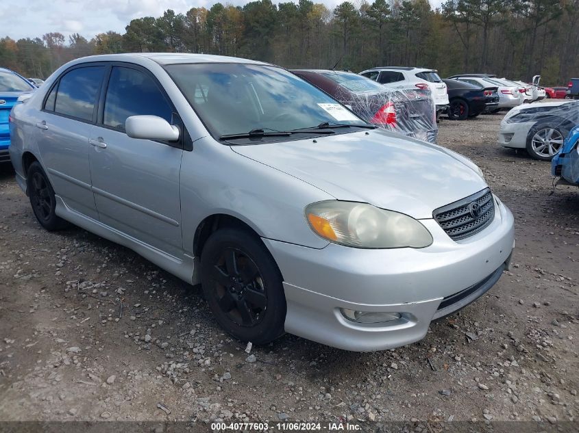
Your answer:
[[[478,209],[477,209],[478,207]],[[486,188],[432,213],[447,235],[454,241],[465,239],[491,224],[495,217],[495,200]]]

